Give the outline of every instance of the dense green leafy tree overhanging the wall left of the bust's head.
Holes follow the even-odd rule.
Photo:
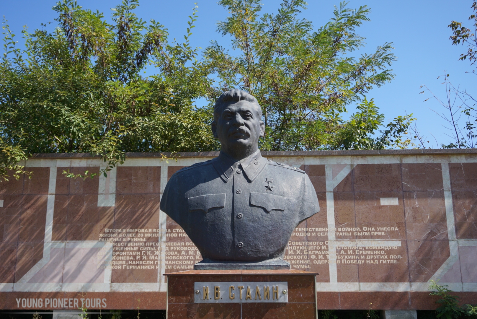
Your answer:
[[[193,106],[210,80],[198,49],[189,45],[197,6],[184,43],[168,43],[167,29],[139,19],[137,0],[116,6],[112,23],[74,0],[58,2],[54,32],[23,30],[16,47],[3,23],[0,65],[0,176],[25,172],[33,153],[101,155],[106,173],[125,152],[218,149],[211,112]],[[43,25],[44,27],[44,25]],[[141,76],[147,66],[157,74]]]

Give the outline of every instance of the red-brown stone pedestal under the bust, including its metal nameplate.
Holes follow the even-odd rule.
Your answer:
[[[167,319],[317,318],[316,273],[188,270],[164,275]]]

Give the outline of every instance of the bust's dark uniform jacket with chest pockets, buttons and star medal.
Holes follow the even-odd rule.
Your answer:
[[[178,170],[161,210],[178,223],[204,259],[263,261],[282,257],[291,233],[320,211],[304,171],[263,158],[258,150]]]

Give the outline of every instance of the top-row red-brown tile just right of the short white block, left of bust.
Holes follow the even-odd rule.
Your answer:
[[[116,194],[159,194],[161,168],[120,166],[116,172]]]

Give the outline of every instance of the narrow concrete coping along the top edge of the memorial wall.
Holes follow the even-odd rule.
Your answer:
[[[126,158],[162,158],[166,157],[217,157],[219,152],[178,152],[178,153],[126,153]],[[299,151],[262,151],[262,156],[372,156],[372,155],[450,155],[477,154],[477,149],[359,149],[359,150],[299,150]],[[32,159],[92,159],[100,158],[90,153],[40,153]]]

